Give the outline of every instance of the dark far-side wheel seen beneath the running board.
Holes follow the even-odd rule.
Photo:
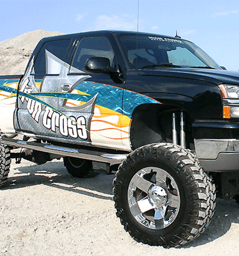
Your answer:
[[[92,169],[92,161],[74,158],[74,157],[64,157],[64,166],[69,174],[74,177],[82,178],[88,174]]]

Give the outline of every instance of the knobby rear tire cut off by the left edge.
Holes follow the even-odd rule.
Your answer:
[[[6,182],[10,170],[10,150],[6,145],[0,145],[0,187]]]

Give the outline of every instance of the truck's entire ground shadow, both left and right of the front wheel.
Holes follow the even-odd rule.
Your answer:
[[[9,178],[1,190],[17,189],[35,185],[46,185],[86,196],[104,200],[113,200],[112,181],[114,174],[97,171],[91,178],[75,178],[66,171],[62,161],[43,165],[13,164]],[[239,223],[239,205],[234,201],[216,199],[215,213],[211,223],[198,238],[184,245],[184,248],[196,247],[211,242],[224,235],[232,223]]]

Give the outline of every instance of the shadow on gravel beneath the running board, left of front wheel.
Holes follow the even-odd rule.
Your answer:
[[[25,161],[22,161],[22,164],[25,165]],[[114,175],[108,175],[101,170],[94,171],[92,176],[94,177],[72,177],[65,169],[62,161],[42,165],[30,164],[28,166],[13,164],[7,182],[1,190],[43,184],[87,196],[112,200]]]

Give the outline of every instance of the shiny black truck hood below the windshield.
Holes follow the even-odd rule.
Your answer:
[[[139,74],[144,76],[187,78],[210,82],[216,85],[221,83],[239,85],[239,72],[222,69],[148,68],[139,70]]]

